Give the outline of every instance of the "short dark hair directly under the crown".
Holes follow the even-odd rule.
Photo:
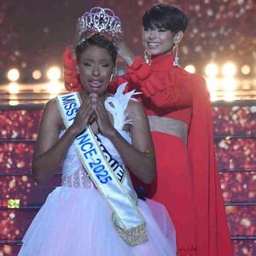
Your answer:
[[[113,46],[113,43],[107,37],[104,37],[100,34],[92,35],[90,38],[87,38],[84,42],[76,47],[76,57],[78,62],[80,61],[81,55],[83,54],[84,50],[91,45],[96,45],[101,47],[102,49],[106,49],[108,51],[108,54],[112,58],[113,64],[115,64],[117,58],[117,50]]]

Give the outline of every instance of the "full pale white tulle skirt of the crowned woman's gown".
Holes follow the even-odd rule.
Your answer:
[[[176,239],[166,208],[138,201],[148,241],[125,244],[113,227],[108,204],[96,189],[58,187],[51,192],[23,238],[19,256],[175,256]]]

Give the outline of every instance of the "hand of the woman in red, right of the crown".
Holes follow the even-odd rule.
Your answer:
[[[125,44],[125,41],[120,34],[115,34],[113,37],[113,45],[117,49],[118,55],[126,62],[127,65],[130,66],[135,59],[135,55]]]

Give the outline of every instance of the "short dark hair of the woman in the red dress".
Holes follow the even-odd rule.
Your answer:
[[[189,19],[182,9],[175,5],[159,3],[152,5],[143,15],[145,28],[166,28],[171,32],[185,32]]]

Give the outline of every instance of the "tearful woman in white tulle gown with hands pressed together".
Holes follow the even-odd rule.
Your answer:
[[[144,183],[155,177],[154,148],[142,104],[131,99],[134,92],[123,94],[125,84],[114,96],[108,93],[117,57],[112,42],[94,34],[77,46],[76,55],[81,106],[67,128],[57,100],[46,104],[32,162],[38,183],[46,182],[62,165],[62,184],[49,194],[33,219],[19,255],[174,256],[175,230],[166,208],[137,200],[147,239],[135,246],[127,244],[113,224],[113,208],[78,157],[74,140],[90,125],[119,166],[127,166]]]

